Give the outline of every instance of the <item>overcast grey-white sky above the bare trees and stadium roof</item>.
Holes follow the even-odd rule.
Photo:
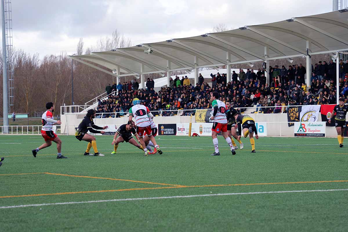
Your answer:
[[[13,44],[40,57],[73,54],[79,38],[86,49],[115,29],[137,45],[330,11],[332,0],[13,0]]]

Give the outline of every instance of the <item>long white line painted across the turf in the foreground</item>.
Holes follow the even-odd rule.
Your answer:
[[[172,199],[172,198],[213,197],[213,196],[226,196],[226,195],[271,194],[271,193],[301,193],[301,192],[330,192],[330,191],[348,191],[348,189],[294,190],[294,191],[244,192],[244,193],[217,193],[217,194],[186,195],[186,196],[171,196],[171,197],[125,198],[125,199],[111,199],[111,200],[97,200],[97,201],[72,201],[72,202],[44,203],[44,204],[32,204],[32,205],[1,206],[0,209],[24,208],[24,207],[30,207],[30,206],[73,205],[73,204],[83,204],[83,203],[112,202],[112,201],[136,201],[136,200]]]

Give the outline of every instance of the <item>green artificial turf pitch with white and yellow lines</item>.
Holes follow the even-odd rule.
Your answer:
[[[348,145],[339,148],[334,138],[261,137],[255,139],[256,153],[251,153],[249,140],[242,138],[244,149],[232,155],[219,136],[221,155],[211,156],[211,137],[157,136],[163,154],[144,157],[129,143],[121,143],[117,154],[111,155],[112,136],[97,136],[98,150],[105,157],[91,157],[83,155],[86,142],[74,136],[59,137],[68,159],[56,159],[55,144],[34,158],[31,150],[42,144],[41,136],[0,136],[0,157],[5,157],[0,167],[0,207],[348,189]],[[21,173],[37,174],[7,175]],[[348,191],[213,195],[0,208],[0,228],[347,231],[347,212]]]

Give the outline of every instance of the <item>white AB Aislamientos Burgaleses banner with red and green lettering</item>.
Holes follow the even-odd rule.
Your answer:
[[[295,122],[295,136],[325,137],[325,122]]]

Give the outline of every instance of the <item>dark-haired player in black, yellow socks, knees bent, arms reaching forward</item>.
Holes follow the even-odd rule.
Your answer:
[[[87,131],[94,134],[105,134],[105,131],[98,131],[98,130],[104,130],[107,129],[108,126],[104,127],[98,127],[94,125],[93,119],[95,118],[96,112],[93,109],[90,109],[87,111],[87,114],[84,119],[80,122],[76,132],[75,137],[81,141],[84,140],[88,142],[87,149],[84,155],[94,155],[94,156],[104,156],[100,152],[98,152],[97,149],[97,142],[95,140],[95,137],[92,135],[87,134]],[[95,129],[95,130],[94,130]],[[89,150],[93,147],[94,154],[89,154]]]

